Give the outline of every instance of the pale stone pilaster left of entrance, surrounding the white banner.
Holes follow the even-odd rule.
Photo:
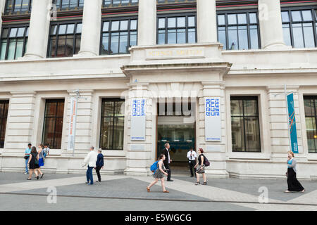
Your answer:
[[[153,151],[156,148],[155,133],[156,133],[156,106],[149,97],[149,84],[130,84],[130,96],[125,101],[126,113],[128,117],[128,150],[127,150],[127,167],[126,175],[132,176],[147,176],[149,175],[149,167],[154,162]],[[131,141],[131,108],[132,98],[146,99],[146,140]],[[155,156],[156,158],[156,156]]]

